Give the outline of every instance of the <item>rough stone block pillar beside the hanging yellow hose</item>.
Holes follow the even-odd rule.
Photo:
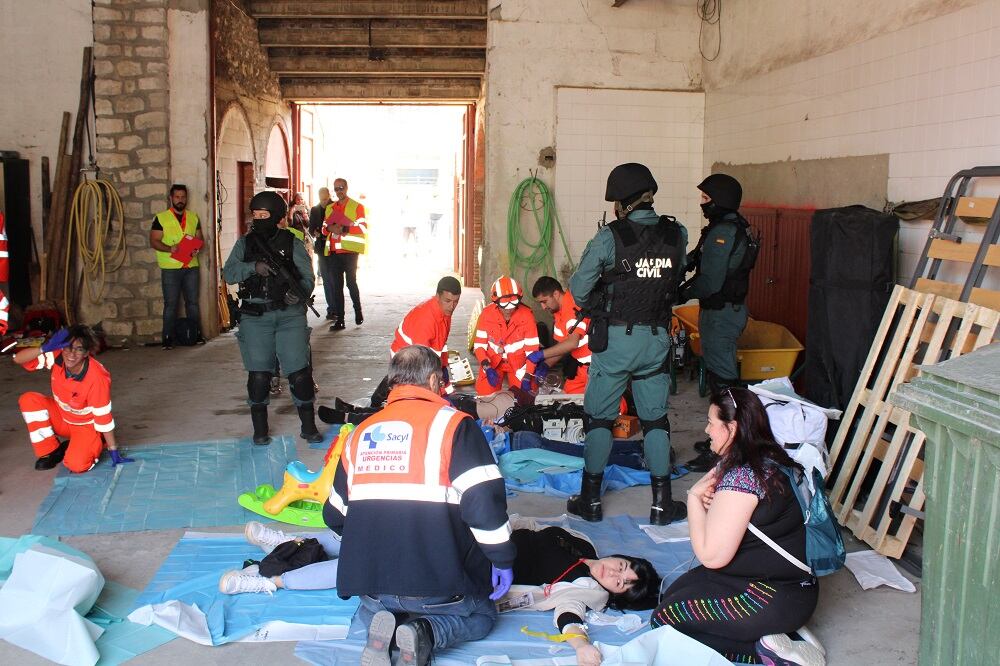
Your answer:
[[[149,247],[152,217],[167,206],[170,146],[167,0],[95,0],[97,162],[125,212],[127,256],[109,273],[104,302],[83,299],[80,318],[112,342],[160,333],[162,293]]]

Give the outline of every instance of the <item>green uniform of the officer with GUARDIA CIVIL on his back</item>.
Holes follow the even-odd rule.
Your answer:
[[[659,222],[652,209],[633,210],[628,219],[640,225],[651,226]],[[687,246],[687,232],[681,231],[680,251]],[[616,264],[615,238],[610,228],[602,228],[584,250],[580,266],[570,278],[570,291],[579,304],[587,303],[598,287],[601,276]],[[674,267],[683,271],[683,267]],[[607,290],[614,297],[614,285]],[[664,294],[664,298],[667,295]],[[628,329],[631,328],[629,333]],[[654,330],[655,329],[655,330]],[[669,378],[664,372],[664,362],[670,352],[670,335],[666,326],[636,324],[628,327],[612,321],[608,327],[608,347],[602,352],[592,352],[584,411],[598,422],[613,421],[618,416],[618,405],[629,382],[635,398],[636,412],[641,421],[663,423],[645,431],[644,449],[650,474],[670,474],[670,435],[665,426]],[[608,427],[588,429],[584,461],[586,471],[599,474],[604,471],[611,452],[612,435]]]

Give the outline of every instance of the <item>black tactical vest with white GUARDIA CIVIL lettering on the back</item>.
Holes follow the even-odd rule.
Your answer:
[[[615,267],[602,279],[614,285],[608,312],[612,323],[668,325],[684,271],[677,220],[669,215],[653,225],[615,220],[608,228],[615,238]]]

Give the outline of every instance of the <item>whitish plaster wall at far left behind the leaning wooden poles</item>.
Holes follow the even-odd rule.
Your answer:
[[[0,150],[16,150],[29,161],[31,229],[39,248],[42,157],[49,158],[54,183],[62,114],[71,115],[72,147],[83,49],[93,43],[90,0],[0,2],[0,90],[5,91],[0,95]]]

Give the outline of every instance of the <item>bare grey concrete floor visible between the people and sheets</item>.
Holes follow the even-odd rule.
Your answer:
[[[310,315],[316,381],[320,404],[334,396],[348,401],[366,398],[374,382],[385,374],[388,346],[402,316],[419,300],[433,293],[433,281],[414,278],[400,270],[383,280],[373,293],[371,280],[361,275],[366,321],[346,331],[329,332],[326,323]],[[317,288],[317,293],[322,290]],[[476,290],[466,290],[454,318],[451,348],[464,349],[465,327]],[[318,308],[323,312],[323,308]],[[203,347],[163,351],[159,347],[112,350],[101,356],[114,377],[114,413],[119,445],[141,448],[145,444],[238,437],[248,434],[249,411],[245,403],[246,375],[232,333]],[[0,512],[0,535],[29,533],[35,511],[49,492],[55,471],[33,469],[24,423],[17,411],[17,396],[25,390],[47,391],[47,374],[32,375],[10,365],[0,371],[0,495],[10,504]],[[165,407],[168,406],[168,407]],[[673,443],[681,461],[693,457],[692,445],[703,437],[706,402],[693,382],[680,381],[670,400]],[[285,392],[271,407],[271,428],[277,433],[297,433],[298,420]],[[299,444],[307,464],[318,463],[322,451]],[[682,497],[698,475],[677,483]],[[235,501],[235,498],[234,498]],[[552,516],[564,512],[565,502],[545,496],[521,494],[509,499],[511,512]],[[648,488],[611,493],[605,500],[609,515],[646,515]],[[221,527],[238,532],[241,526]],[[65,541],[94,558],[109,580],[142,589],[184,530],[69,537]],[[849,541],[848,549],[861,549]],[[881,588],[862,591],[845,569],[821,582],[819,608],[810,626],[827,649],[829,663],[840,665],[915,664],[920,623],[920,593],[904,594]],[[292,659],[293,643],[231,644],[207,648],[177,639],[150,652],[136,663],[163,664],[263,664]],[[0,642],[0,663],[48,663],[34,654]]]

